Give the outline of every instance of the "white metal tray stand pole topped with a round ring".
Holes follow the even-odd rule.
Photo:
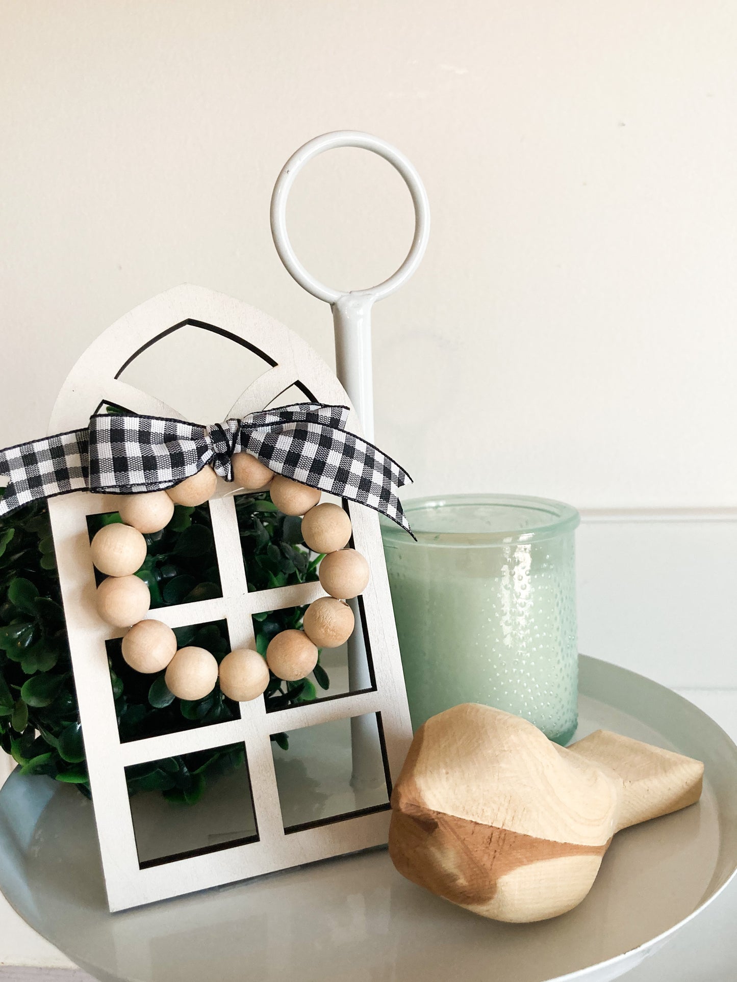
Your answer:
[[[403,177],[415,206],[415,236],[412,246],[399,269],[383,283],[368,290],[342,293],[316,280],[297,258],[287,235],[287,198],[295,178],[313,157],[325,150],[354,146],[377,153],[387,160]],[[429,236],[429,205],[425,186],[415,167],[403,153],[379,139],[351,130],[341,130],[316,136],[305,143],[284,165],[271,196],[271,233],[279,258],[287,272],[317,300],[329,303],[335,327],[336,374],[348,393],[361,419],[364,435],[373,440],[373,381],[371,370],[371,307],[398,290],[420,265]],[[358,602],[351,601],[360,624]],[[364,637],[355,631],[348,642],[348,674],[351,691],[370,687],[369,661]],[[371,728],[373,720],[354,718],[351,722],[353,745],[353,782],[355,785],[374,784],[382,780],[381,762],[369,752],[375,744]]]

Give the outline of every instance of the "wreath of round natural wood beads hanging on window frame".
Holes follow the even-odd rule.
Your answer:
[[[304,517],[302,536],[312,552],[323,555],[318,575],[328,595],[308,607],[302,630],[283,630],[271,639],[265,661],[257,651],[237,648],[218,666],[204,648],[178,648],[171,627],[146,618],[150,594],[136,575],[146,556],[143,536],[161,531],[174,515],[175,504],[192,507],[209,501],[217,475],[205,465],[166,491],[126,495],[119,508],[121,522],[105,525],[90,544],[92,564],[106,576],[97,587],[97,613],[112,627],[129,628],[122,641],[127,664],[145,675],[166,670],[166,685],[180,699],[204,698],[219,681],[228,698],[250,702],[266,690],[269,670],[285,682],[304,679],[317,664],[319,648],[339,647],[351,636],[355,618],[346,601],[369,583],[366,559],[346,548],[353,527],[339,505],[320,505],[318,488],[275,474],[251,454],[234,454],[232,466],[239,487],[268,490],[280,512]]]

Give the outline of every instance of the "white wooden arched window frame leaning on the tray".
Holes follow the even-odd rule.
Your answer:
[[[62,387],[49,432],[85,426],[89,415],[106,403],[135,412],[179,416],[119,376],[133,356],[186,324],[225,334],[275,362],[246,389],[229,416],[263,409],[298,382],[319,402],[350,406],[327,365],[284,325],[240,300],[184,286],[142,303],[87,349]],[[348,428],[360,432],[353,409]],[[121,743],[105,642],[121,636],[123,631],[104,625],[96,614],[86,524],[89,515],[117,511],[118,503],[115,495],[87,493],[49,501],[110,909],[120,910],[385,844],[389,824],[385,807],[285,832],[270,741],[271,734],[376,713],[380,714],[379,734],[389,789],[399,772],[412,730],[376,514],[349,503],[355,546],[369,560],[371,571],[363,594],[374,679],[371,689],[270,713],[265,711],[264,700],[258,698],[241,703],[238,720]],[[324,592],[315,582],[250,593],[232,484],[220,482],[210,501],[210,514],[222,596],[157,608],[148,616],[170,627],[225,620],[233,648],[254,647],[255,613],[308,604]],[[241,741],[246,747],[257,841],[142,868],[125,768]]]

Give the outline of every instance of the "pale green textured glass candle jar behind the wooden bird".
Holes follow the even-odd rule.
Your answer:
[[[389,523],[382,535],[413,727],[482,702],[568,742],[577,725],[578,512],[516,495],[403,506],[418,541]]]

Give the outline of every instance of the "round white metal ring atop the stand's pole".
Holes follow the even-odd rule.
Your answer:
[[[370,150],[377,153],[379,157],[387,160],[401,174],[405,184],[412,195],[412,202],[415,206],[415,236],[412,246],[407,253],[402,265],[387,280],[370,287],[369,290],[356,290],[354,296],[370,297],[371,300],[383,300],[389,294],[399,289],[405,283],[417,267],[425,253],[427,238],[429,236],[429,204],[427,202],[427,192],[415,170],[415,167],[396,147],[390,143],[379,139],[377,136],[370,136],[368,133],[361,133],[355,130],[338,130],[335,133],[326,133],[323,136],[315,136],[304,146],[301,146],[296,153],[293,153],[282,168],[282,172],[274,185],[274,192],[271,195],[271,235],[274,239],[274,246],[279,253],[279,258],[284,263],[287,272],[292,276],[301,287],[311,293],[317,300],[324,300],[326,303],[335,303],[345,296],[340,290],[333,290],[315,280],[302,265],[295,255],[292,244],[287,235],[287,198],[292,189],[294,180],[302,168],[312,157],[316,157],[325,150],[333,150],[339,146],[355,146],[359,149]]]

